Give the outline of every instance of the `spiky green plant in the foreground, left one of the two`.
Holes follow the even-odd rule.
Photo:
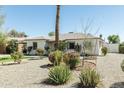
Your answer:
[[[55,66],[50,69],[49,72],[49,83],[52,84],[64,84],[66,83],[71,76],[71,72],[67,66]]]

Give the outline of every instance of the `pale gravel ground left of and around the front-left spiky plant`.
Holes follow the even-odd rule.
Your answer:
[[[52,86],[42,83],[48,78],[48,58],[28,60],[21,64],[0,66],[0,87],[4,88],[39,88],[39,87],[75,87],[78,79],[74,77],[66,84]],[[77,72],[73,72],[78,77]]]

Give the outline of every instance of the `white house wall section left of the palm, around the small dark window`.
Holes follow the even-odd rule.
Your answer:
[[[29,40],[25,41],[27,43],[27,48],[32,46],[33,47],[33,42],[37,42],[37,48],[44,49],[46,45],[46,40]],[[36,54],[36,50],[32,50],[30,54]]]

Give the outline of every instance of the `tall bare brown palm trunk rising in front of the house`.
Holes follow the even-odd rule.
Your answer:
[[[59,19],[60,19],[60,5],[57,5],[56,27],[55,27],[55,48],[56,49],[58,49],[58,45],[59,45]]]

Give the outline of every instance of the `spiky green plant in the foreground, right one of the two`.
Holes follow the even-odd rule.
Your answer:
[[[95,88],[100,83],[100,75],[91,68],[84,69],[80,76],[80,87]]]

